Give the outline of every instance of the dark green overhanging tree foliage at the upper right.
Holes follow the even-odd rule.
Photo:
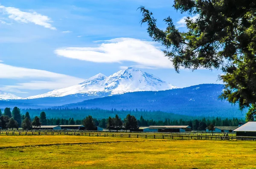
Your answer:
[[[241,109],[252,107],[256,103],[256,1],[175,0],[173,7],[190,15],[186,32],[177,30],[170,17],[164,19],[166,30],[160,30],[150,11],[143,6],[140,11],[141,23],[147,23],[149,36],[166,48],[163,52],[175,70],[221,69],[225,84],[221,98]]]

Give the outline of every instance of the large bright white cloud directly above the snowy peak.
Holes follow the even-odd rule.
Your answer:
[[[154,46],[154,42],[132,38],[117,38],[103,42],[96,48],[58,48],[55,54],[71,59],[99,63],[134,62],[138,68],[173,68],[172,62]]]

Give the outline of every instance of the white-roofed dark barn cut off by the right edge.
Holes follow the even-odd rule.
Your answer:
[[[256,121],[249,121],[234,132],[237,136],[256,136]]]

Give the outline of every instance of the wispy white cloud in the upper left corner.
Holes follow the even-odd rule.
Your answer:
[[[17,22],[34,23],[36,25],[44,26],[45,28],[56,30],[56,28],[50,24],[52,23],[52,20],[49,17],[38,14],[35,11],[23,12],[20,11],[20,9],[18,8],[0,6],[0,12],[9,15],[10,19],[15,20]]]

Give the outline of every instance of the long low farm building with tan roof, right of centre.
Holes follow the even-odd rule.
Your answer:
[[[191,131],[190,126],[149,126],[140,127],[140,131],[143,132],[187,132]]]

